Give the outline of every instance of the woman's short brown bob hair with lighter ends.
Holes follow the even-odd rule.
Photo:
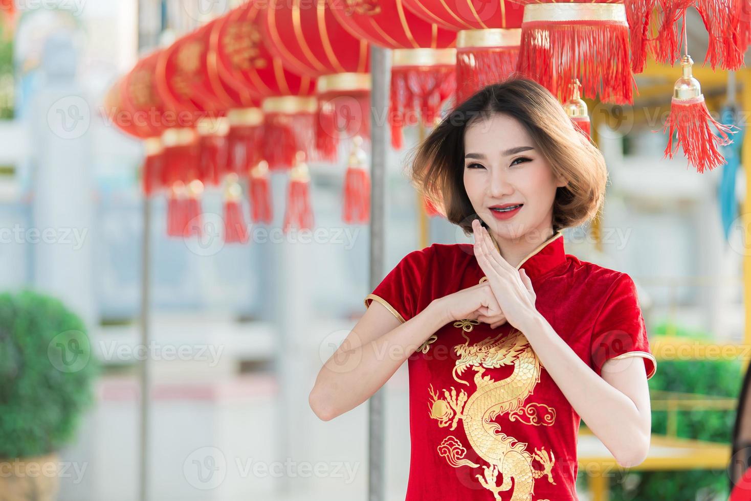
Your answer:
[[[556,190],[553,231],[593,219],[605,200],[605,158],[574,126],[559,101],[526,77],[487,86],[451,110],[410,152],[412,184],[469,236],[472,220],[478,217],[464,189],[464,132],[476,119],[493,113],[520,121],[553,175],[568,182]]]

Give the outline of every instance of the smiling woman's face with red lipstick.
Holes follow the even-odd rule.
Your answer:
[[[549,236],[556,188],[553,176],[526,129],[505,113],[478,118],[464,133],[464,187],[475,212],[499,239],[520,239],[530,231]],[[496,206],[521,205],[511,211]]]

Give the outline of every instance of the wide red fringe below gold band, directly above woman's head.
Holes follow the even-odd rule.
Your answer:
[[[549,43],[542,45],[539,40]],[[524,23],[518,69],[559,101],[578,78],[582,97],[614,104],[634,102],[626,23]]]

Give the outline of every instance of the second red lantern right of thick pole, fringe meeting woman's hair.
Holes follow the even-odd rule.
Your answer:
[[[517,68],[523,5],[510,0],[404,0],[429,23],[458,30],[457,104]]]

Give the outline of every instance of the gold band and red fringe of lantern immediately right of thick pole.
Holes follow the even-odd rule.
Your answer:
[[[456,49],[394,50],[388,114],[394,149],[402,148],[403,127],[436,123],[456,83]]]

